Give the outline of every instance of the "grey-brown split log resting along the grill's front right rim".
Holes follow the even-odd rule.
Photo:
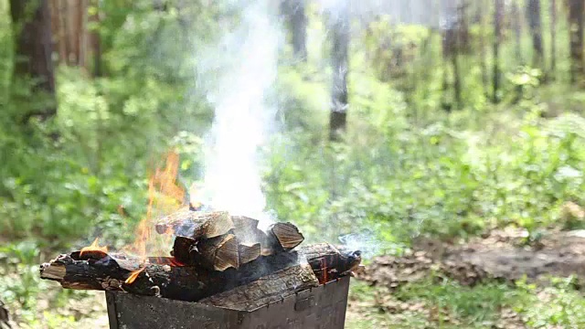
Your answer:
[[[257,281],[207,297],[200,303],[239,311],[253,311],[271,302],[317,287],[319,281],[308,264],[274,272]]]

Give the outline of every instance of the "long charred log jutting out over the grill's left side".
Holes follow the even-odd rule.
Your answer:
[[[218,292],[256,281],[275,271],[298,264],[298,255],[282,253],[262,257],[239,267],[239,270],[209,271],[195,266],[173,266],[174,259],[153,257],[144,262],[127,257],[113,258],[103,252],[63,254],[40,266],[41,279],[58,281],[63,288],[130,292],[196,302]],[[142,270],[132,283],[125,281]]]

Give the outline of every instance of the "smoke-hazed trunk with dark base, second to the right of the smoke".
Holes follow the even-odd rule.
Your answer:
[[[347,126],[347,72],[349,70],[349,1],[342,0],[335,12],[330,13],[333,45],[331,60],[333,67],[333,86],[331,90],[331,115],[329,118],[329,139],[340,140]]]

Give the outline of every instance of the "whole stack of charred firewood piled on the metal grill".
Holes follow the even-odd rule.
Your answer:
[[[295,249],[303,234],[291,223],[182,208],[155,229],[176,236],[171,257],[147,260],[103,250],[74,251],[42,264],[42,279],[69,289],[131,292],[251,310],[355,270],[357,250],[327,243]]]

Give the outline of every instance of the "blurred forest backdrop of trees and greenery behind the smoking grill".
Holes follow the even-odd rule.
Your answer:
[[[166,154],[188,189],[226,134],[267,132],[272,218],[372,263],[421,240],[513,231],[537,250],[585,228],[584,0],[258,3],[0,0],[0,323],[106,327],[102,293],[40,281],[38,264],[130,243]],[[210,136],[214,113],[254,101],[261,119]],[[352,285],[349,328],[585,327],[577,277]]]

